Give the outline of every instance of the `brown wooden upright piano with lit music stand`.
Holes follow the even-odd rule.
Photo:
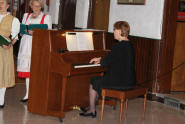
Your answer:
[[[107,55],[109,51],[105,50],[105,32],[91,31],[94,50],[90,51],[66,51],[66,32],[67,30],[42,29],[34,31],[29,112],[62,119],[74,107],[88,106],[90,78],[105,71],[100,66],[76,66],[88,63],[91,58]]]

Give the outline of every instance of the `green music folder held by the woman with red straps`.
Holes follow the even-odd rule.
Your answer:
[[[48,25],[47,24],[30,24],[30,25],[20,24],[21,34],[29,35],[27,30],[33,30],[33,29],[48,29]]]

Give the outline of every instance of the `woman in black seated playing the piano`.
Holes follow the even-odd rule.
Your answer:
[[[96,117],[95,104],[101,97],[101,88],[129,90],[136,85],[134,48],[128,39],[130,26],[125,21],[114,24],[114,38],[118,40],[105,58],[93,58],[90,63],[106,66],[103,77],[91,79],[89,88],[89,107],[82,108],[81,116]]]

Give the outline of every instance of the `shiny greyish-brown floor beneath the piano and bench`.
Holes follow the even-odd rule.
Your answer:
[[[0,109],[0,124],[60,124],[59,119],[41,116],[27,111],[27,105],[19,102],[24,95],[24,84],[17,84],[6,92],[4,109]],[[127,120],[122,124],[185,124],[185,111],[177,110],[158,102],[147,101],[145,120],[142,120],[142,98],[129,100]],[[66,114],[63,124],[98,124],[100,106],[97,106],[97,118],[80,117],[78,110]],[[125,122],[124,122],[125,121]],[[105,106],[104,124],[119,123],[119,104],[116,110]]]

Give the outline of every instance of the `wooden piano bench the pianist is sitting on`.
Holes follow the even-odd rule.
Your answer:
[[[126,100],[125,114],[124,114],[124,117],[126,119],[128,99],[135,98],[135,97],[142,96],[142,95],[144,95],[144,105],[143,105],[143,119],[144,119],[147,93],[148,93],[148,88],[144,88],[144,87],[135,87],[135,88],[133,88],[131,90],[127,90],[127,91],[113,90],[113,89],[102,89],[101,124],[103,124],[103,111],[104,111],[105,97],[112,97],[112,98],[120,99],[119,124],[121,124],[124,101]]]

